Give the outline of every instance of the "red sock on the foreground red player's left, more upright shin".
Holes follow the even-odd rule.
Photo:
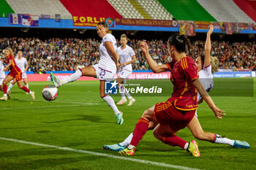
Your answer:
[[[138,120],[138,123],[135,126],[135,130],[133,131],[133,137],[130,144],[133,146],[137,146],[137,144],[142,139],[143,135],[146,134],[146,131],[148,130],[149,122],[148,120],[145,120],[143,118],[140,118]]]

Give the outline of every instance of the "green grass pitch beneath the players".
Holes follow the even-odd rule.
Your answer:
[[[216,89],[210,94],[217,107],[227,113],[222,120],[217,120],[206,102],[200,104],[197,114],[205,131],[249,142],[250,149],[237,149],[196,139],[201,156],[193,158],[179,147],[162,144],[154,138],[152,131],[148,131],[138,144],[135,155],[129,158],[195,169],[256,169],[256,92],[253,94],[253,89],[248,91],[244,88],[247,90],[244,93],[252,95],[232,95],[234,92],[240,93],[244,80],[252,79],[235,80],[232,86],[225,86],[227,79],[214,79]],[[146,81],[154,83],[154,80]],[[252,83],[254,89],[255,82]],[[103,150],[102,145],[122,142],[134,130],[143,110],[168,98],[136,96],[132,107],[118,107],[124,112],[124,124],[117,125],[112,110],[99,96],[99,81],[64,85],[59,88],[56,101],[42,98],[45,85],[51,85],[51,82],[29,82],[29,88],[36,92],[35,101],[31,101],[30,96],[18,89],[17,85],[12,88],[9,101],[0,101],[0,137],[117,155],[117,152]],[[234,90],[229,91],[232,88]],[[230,95],[222,96],[227,91]],[[113,96],[116,102],[120,98]],[[177,135],[187,141],[195,139],[187,128]],[[0,169],[172,168],[0,139]]]

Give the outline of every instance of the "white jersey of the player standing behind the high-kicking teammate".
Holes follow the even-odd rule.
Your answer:
[[[129,47],[128,45],[124,48],[121,49],[121,46],[117,48],[117,52],[119,54],[119,60],[120,63],[125,63],[127,61],[132,60],[132,56],[135,55],[135,52],[132,50],[132,47]],[[132,72],[132,63],[129,63],[127,66],[121,66],[121,71],[127,70]]]

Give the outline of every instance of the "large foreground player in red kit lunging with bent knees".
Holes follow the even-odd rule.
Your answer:
[[[119,155],[134,155],[135,147],[148,130],[149,122],[159,123],[154,128],[154,136],[165,144],[178,146],[190,152],[193,156],[200,156],[197,142],[186,142],[176,136],[175,133],[187,127],[195,115],[197,104],[197,90],[208,106],[213,110],[217,118],[221,119],[222,110],[215,106],[214,101],[204,90],[198,80],[195,61],[185,54],[186,38],[178,34],[170,36],[167,42],[168,52],[173,59],[170,63],[158,65],[148,53],[148,45],[141,42],[140,47],[146,56],[148,65],[153,72],[170,72],[170,80],[173,83],[173,94],[167,101],[156,104],[143,112],[133,131],[132,141],[128,147],[118,152]]]

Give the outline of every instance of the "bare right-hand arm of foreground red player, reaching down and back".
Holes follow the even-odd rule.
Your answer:
[[[224,111],[222,111],[221,109],[219,109],[218,107],[215,106],[214,101],[211,99],[211,96],[209,96],[209,94],[203,88],[203,85],[201,84],[200,80],[197,79],[194,82],[192,82],[192,84],[195,86],[195,88],[197,88],[197,90],[200,93],[200,95],[202,96],[203,100],[206,101],[206,103],[208,104],[208,107],[211,108],[211,110],[214,112],[215,116],[218,119],[222,119],[222,116],[226,115],[226,114],[224,113]]]

